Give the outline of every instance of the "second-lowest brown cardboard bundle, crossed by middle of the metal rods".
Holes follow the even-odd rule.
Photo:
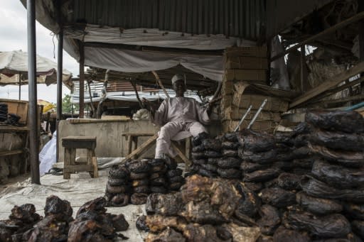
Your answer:
[[[236,106],[230,106],[225,111],[222,111],[223,120],[235,120],[240,121],[242,116],[247,112],[247,109],[239,109]],[[246,120],[251,120],[255,114],[257,113],[257,109],[251,109],[249,114],[245,117]],[[281,115],[277,112],[272,111],[261,111],[257,116],[257,121],[274,121],[279,122],[281,121]]]

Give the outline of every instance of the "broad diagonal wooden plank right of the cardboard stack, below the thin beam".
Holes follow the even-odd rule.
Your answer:
[[[358,65],[355,65],[349,70],[342,72],[340,75],[333,77],[332,80],[327,80],[326,82],[319,84],[318,87],[315,87],[314,89],[309,90],[309,92],[306,92],[305,94],[302,94],[300,97],[294,99],[294,101],[292,101],[291,104],[289,104],[289,109],[299,104],[302,104],[305,101],[312,99],[323,92],[326,92],[328,89],[336,87],[338,84],[344,82],[346,79],[358,75],[360,72],[363,71],[364,71],[364,62],[360,62],[358,63]]]

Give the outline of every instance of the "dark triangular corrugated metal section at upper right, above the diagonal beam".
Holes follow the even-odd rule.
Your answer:
[[[333,0],[267,0],[267,38]]]

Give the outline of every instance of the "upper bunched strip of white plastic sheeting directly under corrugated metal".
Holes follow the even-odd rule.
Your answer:
[[[112,43],[124,45],[144,45],[164,48],[188,48],[193,50],[224,50],[232,45],[254,45],[255,42],[225,35],[194,35],[172,31],[160,31],[157,28],[132,28],[121,30],[109,26],[87,24],[84,30],[66,26],[64,34],[68,38],[82,40],[85,43]]]

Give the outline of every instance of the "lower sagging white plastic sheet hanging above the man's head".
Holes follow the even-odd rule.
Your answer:
[[[85,65],[118,72],[150,72],[183,65],[204,77],[223,81],[223,56],[160,53],[117,48],[85,48]]]

